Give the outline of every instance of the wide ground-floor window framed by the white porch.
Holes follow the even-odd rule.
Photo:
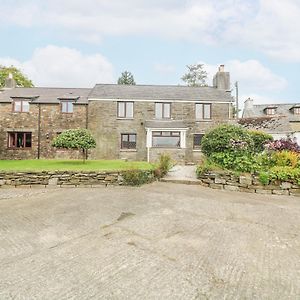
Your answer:
[[[180,148],[180,132],[153,131],[152,145],[157,148]]]

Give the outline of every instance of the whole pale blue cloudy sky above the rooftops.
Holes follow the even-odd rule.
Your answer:
[[[241,103],[300,102],[300,0],[0,0],[0,19],[0,65],[36,86],[184,84],[194,63],[212,85],[224,64]]]

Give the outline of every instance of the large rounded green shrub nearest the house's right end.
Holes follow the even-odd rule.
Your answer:
[[[252,152],[254,142],[250,133],[237,125],[220,125],[209,131],[201,141],[201,149],[210,157],[215,153],[232,152],[235,155]]]

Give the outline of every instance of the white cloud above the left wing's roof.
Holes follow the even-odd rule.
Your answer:
[[[0,58],[1,64],[17,66],[37,86],[92,87],[113,81],[113,67],[104,56],[66,47],[37,48],[28,61]]]

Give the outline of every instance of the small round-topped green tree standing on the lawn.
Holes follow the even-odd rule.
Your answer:
[[[82,150],[85,162],[86,151],[96,147],[96,141],[87,129],[69,129],[57,136],[52,146],[56,148],[67,148]]]

